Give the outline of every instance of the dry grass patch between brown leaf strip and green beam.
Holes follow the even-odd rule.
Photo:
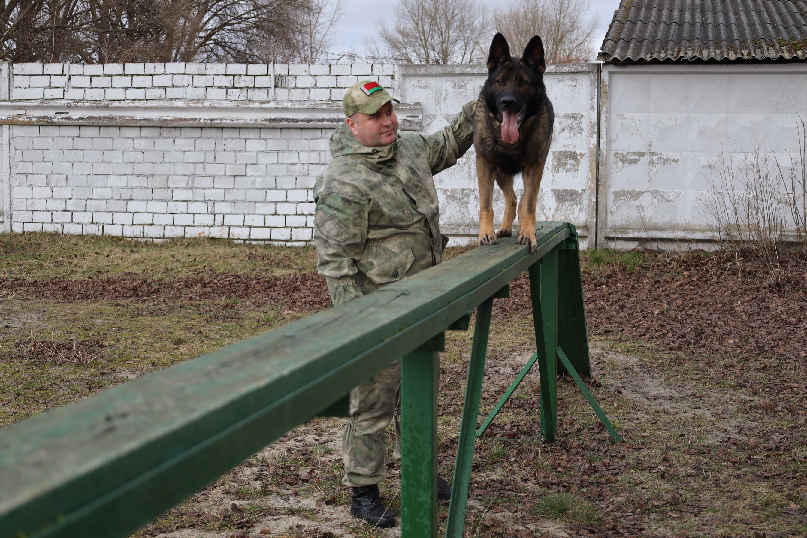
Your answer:
[[[298,317],[239,307],[3,299],[0,426]]]

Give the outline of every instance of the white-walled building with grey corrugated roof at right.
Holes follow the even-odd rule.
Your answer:
[[[599,59],[598,244],[703,245],[726,163],[799,158],[807,0],[622,0]]]

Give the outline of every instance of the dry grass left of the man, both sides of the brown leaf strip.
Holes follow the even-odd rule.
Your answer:
[[[312,248],[218,240],[142,243],[114,237],[0,235],[0,277],[86,278],[194,271],[312,271]],[[287,323],[299,314],[244,300],[192,303],[0,302],[0,426]]]

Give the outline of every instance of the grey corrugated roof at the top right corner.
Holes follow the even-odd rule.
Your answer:
[[[600,60],[807,60],[807,0],[622,0]]]

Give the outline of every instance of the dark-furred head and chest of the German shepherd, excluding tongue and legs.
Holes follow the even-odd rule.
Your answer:
[[[530,166],[543,166],[549,152],[554,123],[552,103],[546,97],[546,69],[541,38],[529,41],[522,57],[510,56],[504,35],[496,34],[487,60],[488,77],[475,114],[476,151],[504,173],[514,174]],[[516,142],[506,114],[517,114]]]

